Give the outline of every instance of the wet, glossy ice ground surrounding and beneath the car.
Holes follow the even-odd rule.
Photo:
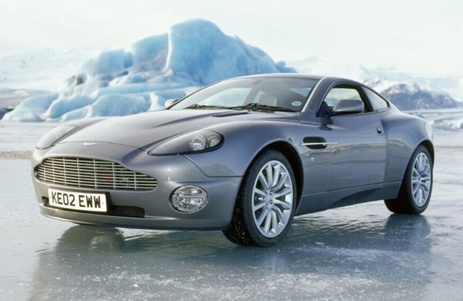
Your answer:
[[[24,158],[47,127],[0,127],[1,300],[463,300],[463,132],[435,132],[422,216],[382,201],[333,209],[262,249],[41,216]]]

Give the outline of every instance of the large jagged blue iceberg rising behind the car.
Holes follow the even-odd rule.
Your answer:
[[[261,49],[227,36],[209,21],[178,23],[129,50],[103,51],[68,78],[59,93],[29,97],[6,121],[63,121],[160,110],[217,80],[255,73],[296,72]]]

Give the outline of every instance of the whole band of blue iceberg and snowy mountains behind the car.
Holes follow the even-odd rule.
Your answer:
[[[428,113],[433,110],[463,109],[463,102],[459,101],[463,100],[462,78],[416,77],[394,68],[370,70],[318,58],[293,61],[288,65],[294,67],[288,67],[202,19],[178,23],[167,33],[135,41],[128,49],[100,53],[82,49],[76,53],[54,56],[53,51],[41,51],[0,59],[0,97],[5,99],[10,94],[9,99],[25,98],[14,110],[11,103],[0,104],[3,121],[61,122],[162,110],[166,100],[182,98],[204,85],[256,73],[298,72],[358,80],[378,90],[400,110],[423,117],[430,116]],[[69,60],[74,64],[67,64],[68,69],[60,68]],[[48,73],[34,75],[34,68],[26,72],[31,63]],[[29,90],[7,88],[24,84],[25,80],[33,83]],[[58,81],[58,88],[50,87],[49,83]],[[450,123],[442,123],[442,118],[439,121],[445,127],[463,127],[463,118]]]

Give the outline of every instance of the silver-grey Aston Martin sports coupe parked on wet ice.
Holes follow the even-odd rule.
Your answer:
[[[432,191],[430,125],[353,80],[252,75],[165,110],[78,120],[36,145],[43,215],[73,223],[219,229],[270,246],[293,216],[385,200],[420,214]]]

